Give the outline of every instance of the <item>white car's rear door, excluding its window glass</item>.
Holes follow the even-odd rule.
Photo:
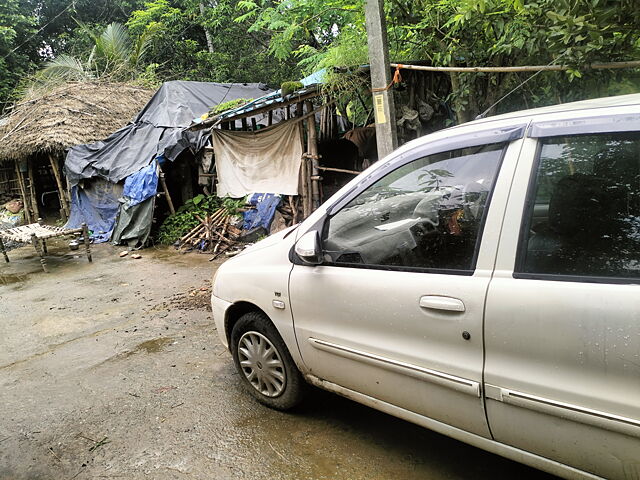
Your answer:
[[[604,478],[638,478],[640,285],[514,278],[537,149],[525,139],[487,296],[491,431]]]

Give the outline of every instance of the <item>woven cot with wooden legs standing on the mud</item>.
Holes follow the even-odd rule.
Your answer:
[[[9,256],[4,248],[3,238],[6,240],[12,240],[20,243],[30,243],[36,249],[36,253],[40,256],[40,263],[42,269],[45,272],[47,270],[47,262],[45,255],[47,255],[47,240],[55,237],[64,237],[68,235],[82,234],[84,240],[84,248],[87,253],[87,260],[92,261],[91,247],[89,246],[89,229],[87,224],[83,223],[80,228],[64,229],[61,227],[53,227],[50,225],[43,225],[42,221],[38,219],[38,223],[30,223],[29,225],[22,225],[21,227],[14,227],[8,230],[0,230],[0,251],[4,255],[6,262],[9,262]]]

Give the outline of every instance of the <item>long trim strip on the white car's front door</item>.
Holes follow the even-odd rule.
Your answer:
[[[340,355],[341,357],[350,358],[352,360],[384,368],[385,370],[398,372],[420,380],[426,380],[430,383],[435,383],[436,385],[451,388],[468,395],[473,395],[474,397],[480,397],[480,383],[474,382],[473,380],[449,375],[448,373],[420,367],[411,363],[392,360],[374,353],[364,352],[362,350],[345,347],[343,345],[337,345],[317,338],[310,337],[308,341],[312,347],[318,350],[323,350],[335,355]]]

